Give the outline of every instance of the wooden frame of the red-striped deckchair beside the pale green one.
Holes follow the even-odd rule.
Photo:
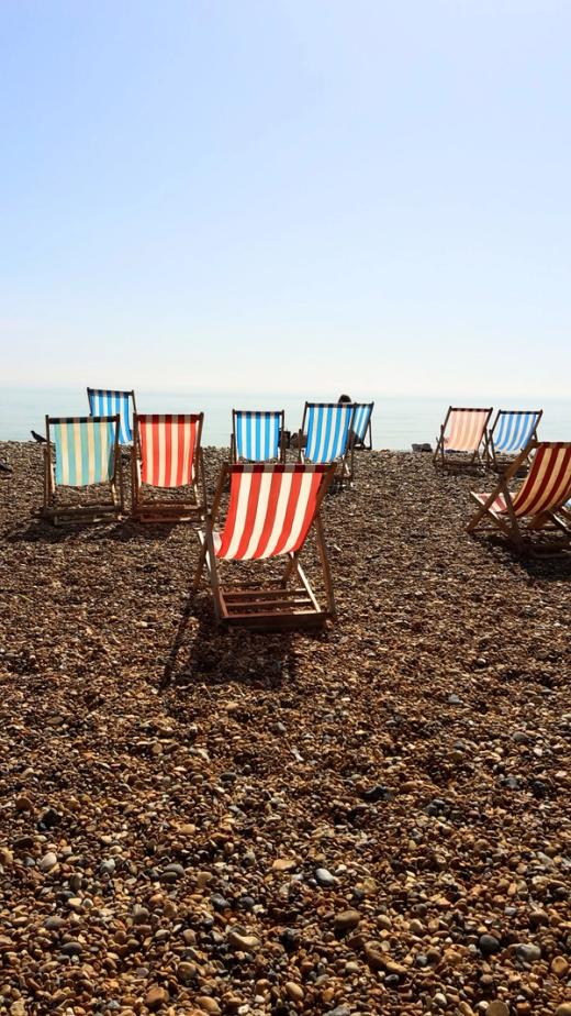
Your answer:
[[[177,413],[169,413],[177,416]],[[180,413],[182,416],[182,413]],[[186,413],[190,416],[190,413]],[[143,484],[139,476],[139,462],[142,456],[141,433],[138,427],[138,415],[133,415],[133,448],[131,452],[131,517],[136,522],[192,522],[200,521],[206,510],[206,479],[204,474],[204,456],[202,452],[202,423],[204,413],[192,413],[199,418],[197,424],[197,439],[194,443],[194,453],[192,456],[192,483],[186,485],[189,489],[188,497],[167,498],[157,497],[149,494],[150,490],[161,490],[163,487],[154,487],[150,484]],[[168,488],[168,489],[178,489]]]

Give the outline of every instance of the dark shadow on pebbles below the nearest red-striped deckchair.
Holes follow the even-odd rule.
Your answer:
[[[280,688],[295,677],[294,638],[290,631],[223,628],[214,620],[211,597],[191,595],[165,664],[163,687],[244,684]]]

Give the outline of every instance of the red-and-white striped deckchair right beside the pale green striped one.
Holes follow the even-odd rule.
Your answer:
[[[203,416],[134,413],[132,515],[137,521],[183,522],[204,513]],[[175,488],[169,497],[158,494]]]

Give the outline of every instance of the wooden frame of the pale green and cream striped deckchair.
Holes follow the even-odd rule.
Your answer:
[[[114,423],[115,441],[113,445],[113,476],[109,481],[111,501],[97,501],[89,505],[58,505],[56,500],[58,486],[54,471],[53,445],[49,438],[49,424],[56,423]],[[44,503],[41,516],[54,526],[61,522],[103,522],[119,518],[124,512],[123,474],[121,471],[121,446],[119,443],[120,417],[49,417],[46,416],[46,443],[44,445]],[[100,486],[99,484],[86,486]],[[119,496],[117,496],[119,492]]]

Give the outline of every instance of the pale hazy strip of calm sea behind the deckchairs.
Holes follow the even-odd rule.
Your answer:
[[[412,444],[435,444],[436,434],[450,402],[447,397],[398,396],[350,391],[356,401],[374,401],[373,448],[408,450]],[[309,391],[310,401],[336,401],[338,393]],[[301,427],[305,398],[291,393],[271,396],[259,391],[221,393],[136,391],[139,412],[204,412],[202,444],[225,448],[229,443],[233,409],[283,409],[286,428],[292,433]],[[454,399],[459,406],[489,406],[490,399]],[[571,441],[571,397],[569,399],[514,398],[493,400],[502,409],[542,409],[539,437]],[[89,411],[87,391],[81,388],[0,386],[0,441],[29,441],[30,431],[45,432],[45,417],[85,416]],[[493,416],[492,416],[493,420]]]

